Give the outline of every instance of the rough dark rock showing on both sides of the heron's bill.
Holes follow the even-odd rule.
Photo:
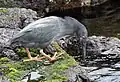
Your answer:
[[[82,46],[75,37],[60,40],[59,44],[78,61],[82,61]],[[120,60],[120,40],[115,37],[91,36],[87,40],[88,65],[109,66]]]

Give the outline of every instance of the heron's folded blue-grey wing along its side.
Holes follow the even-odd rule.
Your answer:
[[[28,29],[23,29],[15,37],[14,41],[22,42],[39,42],[44,43],[51,41],[60,31],[58,28],[59,24],[53,23],[52,21],[48,24],[36,24],[34,27],[31,26]]]

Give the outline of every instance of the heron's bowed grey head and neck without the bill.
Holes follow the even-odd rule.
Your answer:
[[[76,33],[76,35],[79,37],[79,39],[87,38],[88,32],[87,32],[86,27],[83,24],[81,24],[75,18],[68,17],[68,16],[65,17],[65,20],[69,24],[67,26],[69,28],[66,28],[66,33],[69,33],[69,34]]]

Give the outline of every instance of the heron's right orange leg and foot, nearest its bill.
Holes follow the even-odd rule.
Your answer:
[[[54,56],[53,56],[53,57],[50,57],[49,55],[47,55],[47,54],[45,54],[45,53],[43,52],[43,49],[40,50],[40,53],[41,53],[44,57],[46,57],[46,58],[49,60],[49,62],[54,62],[54,61],[56,61],[56,60],[59,59],[60,56],[62,55],[62,53],[59,54],[59,55],[57,55],[57,52],[55,52]]]

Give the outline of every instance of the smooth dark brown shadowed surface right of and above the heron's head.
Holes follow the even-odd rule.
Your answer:
[[[85,20],[83,21],[88,29],[88,33],[90,36],[102,35],[119,37],[119,0],[107,0],[104,3],[96,6],[85,7],[83,10],[83,15],[85,16]]]

